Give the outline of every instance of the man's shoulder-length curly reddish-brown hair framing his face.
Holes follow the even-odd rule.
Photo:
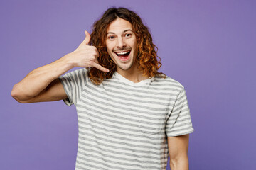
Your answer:
[[[142,72],[144,77],[166,77],[165,74],[158,72],[161,67],[160,57],[156,55],[157,47],[152,42],[149,29],[144,26],[142,19],[127,8],[109,8],[103,14],[102,18],[95,21],[91,33],[89,44],[97,47],[99,64],[110,70],[110,72],[102,72],[95,67],[90,67],[88,76],[94,84],[101,84],[104,79],[110,79],[117,70],[117,65],[111,59],[107,52],[106,37],[107,27],[110,26],[117,18],[122,18],[132,24],[132,29],[137,39],[138,52],[136,60],[139,64],[139,72]],[[156,50],[155,50],[156,49]],[[159,61],[157,60],[159,58]]]

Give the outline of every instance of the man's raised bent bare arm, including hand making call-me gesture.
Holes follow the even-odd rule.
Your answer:
[[[41,101],[58,101],[67,98],[58,77],[74,67],[96,67],[102,72],[108,69],[97,62],[96,47],[88,45],[90,34],[85,31],[86,38],[74,51],[59,60],[39,67],[30,72],[18,84],[15,84],[11,96],[20,103]]]

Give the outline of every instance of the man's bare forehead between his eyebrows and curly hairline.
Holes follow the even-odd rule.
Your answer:
[[[107,33],[122,33],[124,30],[132,30],[132,24],[122,18],[117,18],[107,27]]]

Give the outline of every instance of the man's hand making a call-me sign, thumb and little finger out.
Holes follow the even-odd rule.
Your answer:
[[[90,34],[85,30],[85,40],[82,41],[75,51],[70,53],[74,67],[95,67],[100,69],[102,72],[109,72],[108,69],[99,64],[97,61],[99,52],[96,47],[88,45],[89,42]]]

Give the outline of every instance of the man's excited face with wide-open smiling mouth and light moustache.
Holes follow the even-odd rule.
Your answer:
[[[132,24],[117,18],[107,28],[107,52],[117,64],[117,72],[137,69],[135,63],[138,47]]]

